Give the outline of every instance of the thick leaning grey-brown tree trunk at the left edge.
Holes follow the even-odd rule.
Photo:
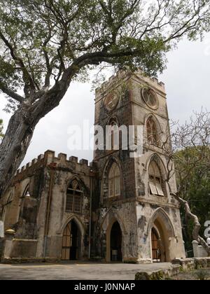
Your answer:
[[[25,158],[39,120],[59,105],[70,83],[71,76],[68,76],[51,90],[42,92],[34,104],[26,100],[10,118],[0,145],[0,199]]]

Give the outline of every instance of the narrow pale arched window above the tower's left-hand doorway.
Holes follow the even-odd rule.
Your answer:
[[[109,171],[109,197],[120,196],[120,169],[113,163]]]

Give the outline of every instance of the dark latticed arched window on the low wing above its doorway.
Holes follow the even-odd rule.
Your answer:
[[[69,188],[67,189],[66,195],[66,211],[69,212],[82,212],[83,202],[83,190],[81,189],[77,180],[73,180]]]

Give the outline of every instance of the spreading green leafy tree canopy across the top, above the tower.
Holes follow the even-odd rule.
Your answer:
[[[73,78],[84,78],[88,66],[99,62],[141,67],[154,76],[165,68],[165,52],[176,41],[209,30],[204,0],[0,3],[0,90],[10,104],[68,76],[69,67],[75,69]]]

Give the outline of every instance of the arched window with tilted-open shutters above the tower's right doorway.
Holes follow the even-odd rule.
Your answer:
[[[160,172],[160,167],[155,161],[152,161],[149,166],[149,187],[152,195],[164,196],[163,181]]]

